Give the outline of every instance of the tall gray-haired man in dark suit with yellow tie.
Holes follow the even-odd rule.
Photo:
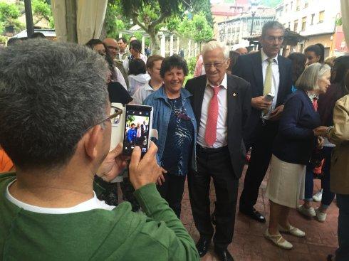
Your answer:
[[[291,61],[278,55],[284,32],[283,25],[277,21],[265,23],[259,38],[262,49],[239,56],[232,68],[234,75],[251,84],[252,91],[252,110],[244,132],[246,148],[251,147],[252,151],[239,209],[259,222],[266,222],[266,219],[254,205],[271,159],[271,147],[278,132],[283,103],[291,93]],[[264,99],[269,93],[274,96],[272,102]],[[263,111],[269,113],[261,117]]]

